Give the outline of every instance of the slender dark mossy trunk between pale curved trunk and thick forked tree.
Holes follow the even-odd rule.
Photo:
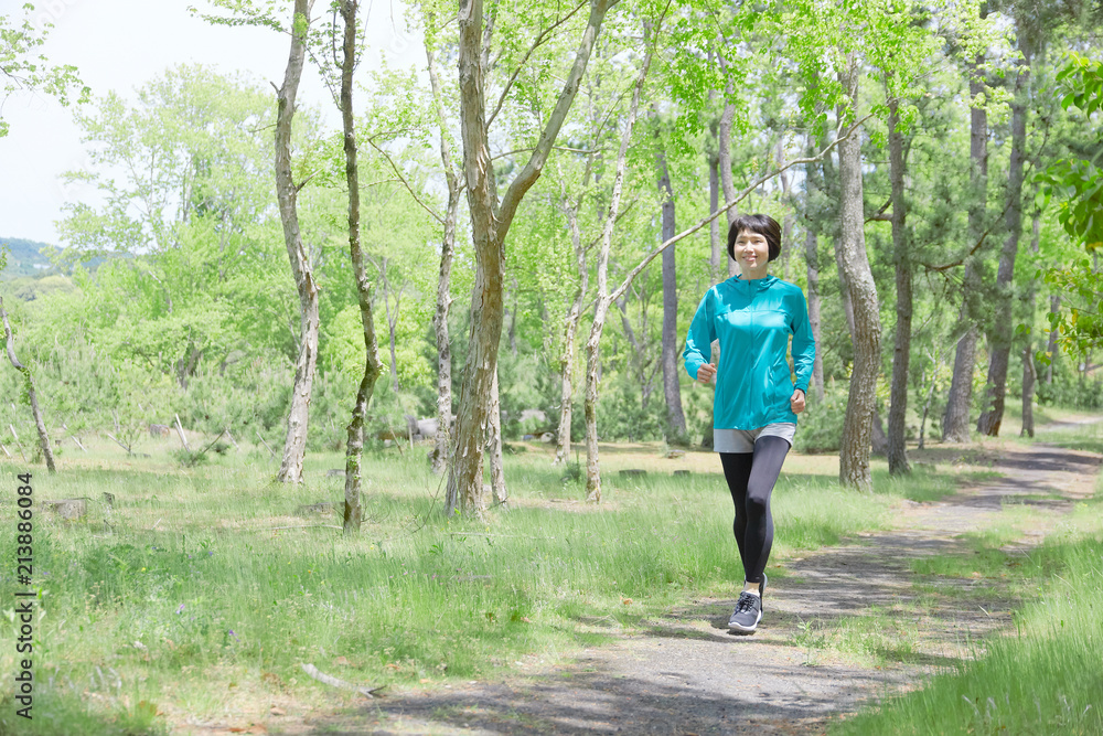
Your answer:
[[[364,253],[360,242],[360,169],[356,127],[353,119],[352,83],[356,68],[356,14],[358,0],[342,0],[341,18],[344,21],[344,44],[341,63],[341,124],[344,130],[345,182],[349,186],[349,257],[352,260],[353,278],[356,281],[356,301],[360,306],[361,324],[364,328],[364,375],[356,390],[356,402],[352,419],[346,429],[345,445],[345,502],[344,533],[360,531],[364,513],[360,503],[361,459],[364,454],[364,417],[367,404],[375,392],[375,382],[383,371],[379,348],[375,337],[375,317],[372,312],[372,284],[364,268]]]

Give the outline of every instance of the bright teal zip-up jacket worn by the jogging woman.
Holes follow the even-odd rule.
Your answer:
[[[786,352],[793,337],[793,383]],[[745,280],[732,276],[705,294],[689,323],[682,353],[689,377],[708,362],[720,341],[713,426],[758,429],[778,422],[796,423],[790,407],[793,390],[808,393],[816,344],[801,288],[775,276]]]

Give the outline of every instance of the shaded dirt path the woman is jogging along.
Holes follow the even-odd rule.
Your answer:
[[[295,733],[823,733],[831,717],[910,686],[967,655],[971,638],[1009,625],[1019,601],[998,585],[953,578],[917,593],[912,559],[962,548],[959,535],[990,524],[1005,502],[1031,506],[1031,530],[1017,544],[1037,543],[1092,493],[1101,463],[1045,446],[978,457],[1004,477],[906,503],[893,530],[789,561],[752,637],[728,633],[733,599],[695,600],[566,671],[396,694]],[[849,642],[845,654],[829,643],[839,641]]]

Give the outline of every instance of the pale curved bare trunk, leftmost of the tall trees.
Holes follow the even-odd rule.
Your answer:
[[[306,35],[310,19],[308,0],[295,0],[291,52],[288,56],[283,85],[277,93],[276,117],[276,194],[279,200],[283,242],[287,246],[291,274],[299,291],[299,355],[295,363],[295,387],[291,409],[287,417],[287,439],[276,480],[282,483],[302,482],[302,458],[307,452],[307,426],[310,419],[310,395],[318,361],[318,284],[314,281],[310,256],[302,245],[296,200],[302,184],[296,185],[291,172],[291,121],[295,98],[302,77]]]

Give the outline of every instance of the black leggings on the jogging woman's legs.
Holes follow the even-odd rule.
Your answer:
[[[765,562],[773,546],[773,516],[770,493],[781,474],[789,454],[783,437],[759,437],[753,452],[720,452],[724,478],[736,504],[736,521],[731,531],[743,563],[743,579],[761,583]]]

